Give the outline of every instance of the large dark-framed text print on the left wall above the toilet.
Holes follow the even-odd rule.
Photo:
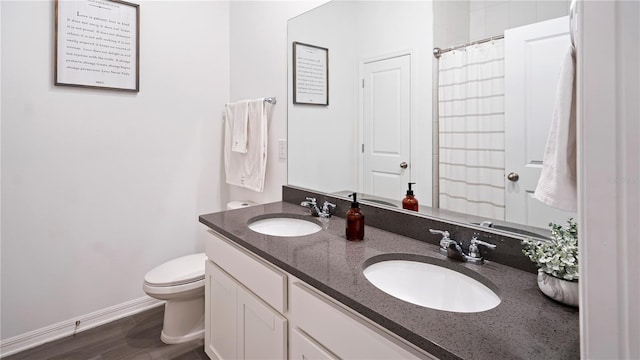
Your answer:
[[[140,7],[56,0],[55,85],[140,91]]]

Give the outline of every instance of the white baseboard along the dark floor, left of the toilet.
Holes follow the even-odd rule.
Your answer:
[[[164,301],[160,301],[149,296],[143,296],[141,298],[133,299],[90,314],[74,317],[67,321],[61,321],[57,324],[17,335],[6,340],[2,339],[0,342],[0,358],[92,329],[162,304],[164,304]],[[76,321],[80,321],[77,327],[75,325]]]

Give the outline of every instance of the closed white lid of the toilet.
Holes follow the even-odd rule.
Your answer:
[[[147,284],[173,286],[204,279],[204,253],[187,255],[167,261],[144,276]]]

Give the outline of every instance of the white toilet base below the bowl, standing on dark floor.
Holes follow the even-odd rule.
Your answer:
[[[198,338],[204,338],[204,294],[185,300],[167,300],[160,340],[165,344],[179,344]]]

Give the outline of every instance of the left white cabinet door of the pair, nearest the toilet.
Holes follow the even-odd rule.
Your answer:
[[[237,359],[238,286],[210,261],[205,276],[205,352],[212,359]]]

